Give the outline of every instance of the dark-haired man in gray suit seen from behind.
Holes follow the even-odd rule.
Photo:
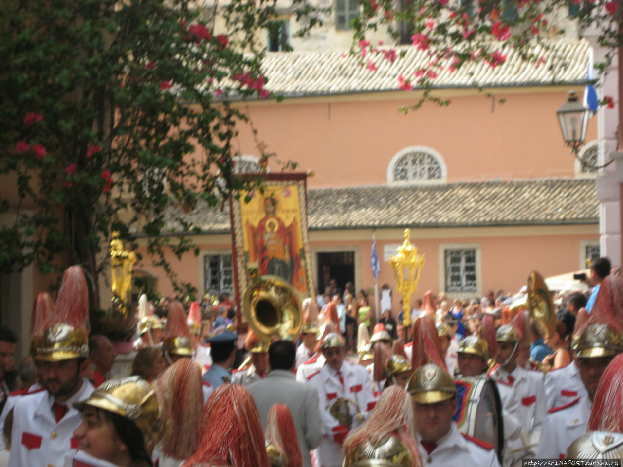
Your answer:
[[[297,351],[292,342],[273,342],[269,347],[270,373],[263,380],[247,386],[247,389],[255,400],[264,427],[273,404],[288,406],[297,428],[303,467],[312,467],[310,451],[320,446],[323,435],[320,403],[313,386],[295,380],[296,357]]]

